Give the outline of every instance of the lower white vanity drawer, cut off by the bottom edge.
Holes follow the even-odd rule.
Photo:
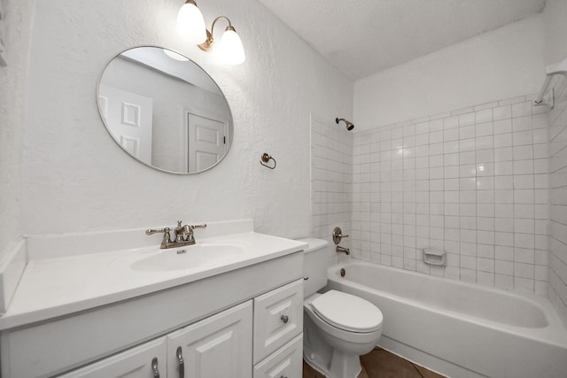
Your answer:
[[[254,366],[253,378],[297,378],[303,371],[303,334]]]

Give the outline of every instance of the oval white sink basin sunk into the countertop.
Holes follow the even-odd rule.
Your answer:
[[[187,270],[217,263],[241,254],[243,248],[233,244],[204,243],[170,250],[159,250],[147,258],[136,260],[132,269],[140,272],[169,272]]]

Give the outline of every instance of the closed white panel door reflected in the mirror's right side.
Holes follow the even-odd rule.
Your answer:
[[[187,113],[189,172],[214,166],[226,151],[226,125],[219,120]]]

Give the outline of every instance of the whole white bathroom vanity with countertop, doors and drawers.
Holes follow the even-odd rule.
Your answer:
[[[236,223],[196,233],[193,251],[31,241],[60,248],[30,254],[0,318],[2,376],[300,376],[305,245]]]

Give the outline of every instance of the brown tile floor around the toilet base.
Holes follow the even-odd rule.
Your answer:
[[[444,378],[379,347],[361,356],[361,365],[358,378]],[[303,378],[324,378],[324,375],[303,362]]]

